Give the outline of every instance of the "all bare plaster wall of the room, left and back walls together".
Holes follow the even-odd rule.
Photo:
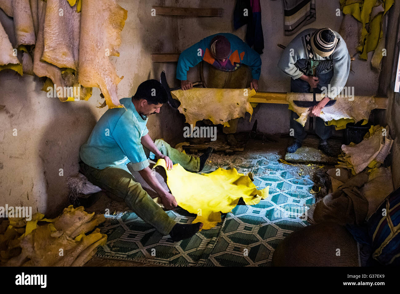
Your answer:
[[[339,30],[342,16],[335,16],[337,2],[318,0],[317,21],[305,28],[329,26]],[[236,31],[233,28],[235,3],[234,0],[118,1],[128,10],[120,57],[112,57],[117,74],[124,76],[118,85],[120,98],[132,96],[143,80],[158,79],[162,70],[166,70],[170,86],[179,85],[174,79],[176,63],[152,63],[152,53],[180,52],[218,32],[233,32],[244,39],[246,26]],[[224,17],[152,17],[152,5],[224,8]],[[276,44],[287,45],[293,36],[284,36],[282,1],[261,1],[261,5],[265,49],[259,90],[288,92],[290,78],[276,67],[282,52]],[[2,11],[0,21],[12,36],[12,21]],[[353,70],[356,74],[350,74],[348,85],[356,88],[356,95],[374,94],[378,79],[370,70],[369,62],[357,60]],[[188,77],[198,80],[198,67],[192,68]],[[0,104],[6,106],[0,111],[0,206],[32,206],[33,211],[55,214],[66,205],[66,177],[78,171],[79,147],[106,108],[96,108],[103,102],[98,89],[93,90],[87,102],[62,103],[57,98],[47,98],[41,87],[37,77],[0,72]],[[259,130],[285,133],[289,115],[287,106],[259,104],[252,122],[241,119],[239,130],[250,130],[254,119],[258,119]],[[176,143],[179,140],[176,137],[182,136],[183,121],[181,114],[164,106],[159,115],[149,118],[150,135]],[[16,137],[12,136],[14,128],[18,130]],[[59,176],[60,168],[64,176]]]

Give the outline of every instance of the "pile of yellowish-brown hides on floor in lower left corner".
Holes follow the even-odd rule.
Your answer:
[[[106,243],[96,228],[104,220],[72,205],[54,219],[40,213],[32,220],[8,217],[0,224],[0,265],[83,266]]]

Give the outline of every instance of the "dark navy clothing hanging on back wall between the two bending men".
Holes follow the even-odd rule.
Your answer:
[[[247,14],[245,14],[247,9]],[[261,23],[260,0],[238,0],[236,2],[233,24],[235,30],[247,24],[246,43],[254,48],[258,54],[264,49],[264,35]]]

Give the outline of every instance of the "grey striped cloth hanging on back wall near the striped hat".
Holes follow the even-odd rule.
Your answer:
[[[285,35],[292,35],[316,20],[315,0],[283,0]]]

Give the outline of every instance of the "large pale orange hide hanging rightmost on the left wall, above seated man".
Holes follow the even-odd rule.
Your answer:
[[[120,55],[128,12],[115,0],[82,0],[80,14],[78,80],[84,87],[100,88],[109,108],[123,107],[117,95],[123,76],[117,76],[110,56]]]

